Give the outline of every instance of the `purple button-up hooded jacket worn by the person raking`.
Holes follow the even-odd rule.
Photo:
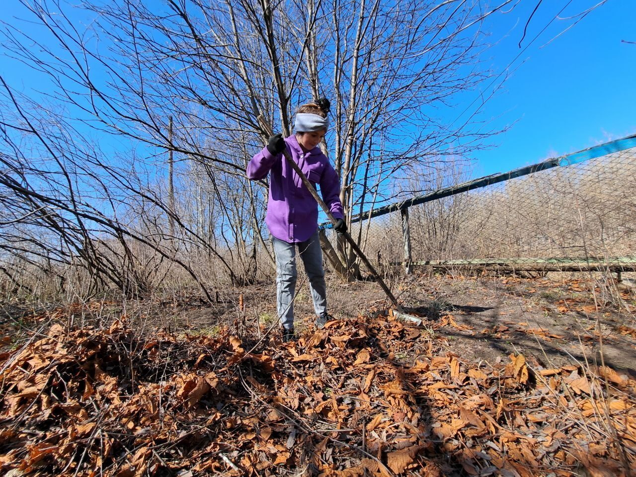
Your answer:
[[[310,183],[320,184],[322,200],[336,219],[343,219],[340,180],[319,147],[303,153],[296,136],[285,139],[294,162]],[[263,179],[270,174],[270,195],[265,223],[274,237],[285,242],[304,242],[318,227],[318,204],[282,154],[272,156],[267,148],[252,157],[247,177]]]

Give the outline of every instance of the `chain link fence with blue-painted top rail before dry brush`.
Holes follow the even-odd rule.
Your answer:
[[[380,266],[633,271],[636,136],[354,217]],[[336,246],[333,232],[328,234]]]

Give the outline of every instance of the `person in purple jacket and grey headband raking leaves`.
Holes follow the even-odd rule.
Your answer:
[[[347,225],[340,203],[340,181],[318,144],[329,127],[329,101],[319,99],[298,108],[294,131],[282,138],[270,137],[268,145],[247,165],[247,177],[263,179],[270,174],[270,192],[265,223],[273,237],[276,254],[276,304],[284,342],[296,340],[294,334],[294,291],[296,289],[296,247],[305,265],[317,315],[315,326],[322,328],[331,318],[327,312],[322,251],[318,238],[318,204],[300,177],[282,155],[287,149],[307,179],[320,184],[322,200],[336,218],[337,232]]]

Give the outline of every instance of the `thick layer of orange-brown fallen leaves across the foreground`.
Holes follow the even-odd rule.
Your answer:
[[[1,356],[4,475],[620,475],[636,382],[439,356],[392,317],[297,343],[66,329]]]

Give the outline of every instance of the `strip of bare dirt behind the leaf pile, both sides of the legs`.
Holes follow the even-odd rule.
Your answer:
[[[300,273],[295,305],[301,334],[314,320],[303,277]],[[537,279],[415,273],[387,281],[448,352],[466,361],[494,364],[518,352],[544,368],[605,364],[636,375],[636,290],[628,286],[618,287],[617,307],[609,303],[600,282],[566,273]],[[329,310],[338,319],[385,313],[388,308],[374,282],[347,284],[333,274],[327,282]],[[214,334],[218,326],[230,326],[239,335],[259,333],[276,321],[275,284],[219,291],[219,302],[213,305],[186,294],[128,303],[127,310],[109,313],[119,311],[130,313],[147,329]]]

